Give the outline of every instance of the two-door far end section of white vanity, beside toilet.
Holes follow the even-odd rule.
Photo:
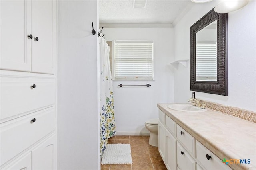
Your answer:
[[[176,123],[159,110],[158,150],[168,170],[177,169]]]

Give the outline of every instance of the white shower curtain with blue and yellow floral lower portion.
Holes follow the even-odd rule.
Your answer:
[[[100,38],[100,149],[106,149],[108,138],[116,133],[114,117],[113,85],[109,61],[110,47],[106,40]]]

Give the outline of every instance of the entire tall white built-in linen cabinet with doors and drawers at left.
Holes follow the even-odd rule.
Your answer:
[[[0,169],[56,169],[56,0],[0,0]]]

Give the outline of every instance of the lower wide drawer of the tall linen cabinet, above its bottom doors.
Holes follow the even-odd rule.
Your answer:
[[[33,123],[31,120],[36,119]],[[55,129],[55,107],[0,124],[0,162],[10,160]]]

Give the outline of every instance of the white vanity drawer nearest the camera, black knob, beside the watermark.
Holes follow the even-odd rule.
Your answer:
[[[206,157],[206,155],[210,157]],[[204,166],[205,169],[208,170],[231,170],[229,166],[222,163],[222,160],[220,160],[217,156],[215,156],[210,150],[208,150],[204,145],[202,145],[200,142],[196,141],[196,157],[197,161]],[[208,160],[209,159],[209,160]]]

